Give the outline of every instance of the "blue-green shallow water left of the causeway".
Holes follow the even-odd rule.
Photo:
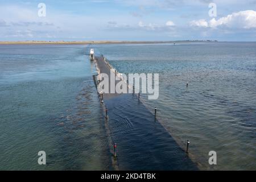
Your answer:
[[[0,169],[112,169],[86,50],[0,46]]]

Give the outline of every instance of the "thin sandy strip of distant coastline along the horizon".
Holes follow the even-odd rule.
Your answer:
[[[217,42],[217,40],[178,40],[178,41],[2,41],[0,44],[162,44]]]

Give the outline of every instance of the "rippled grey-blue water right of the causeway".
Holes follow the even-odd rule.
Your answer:
[[[256,168],[256,43],[94,46],[121,73],[159,73],[158,119],[200,169]],[[186,88],[187,72],[189,86]],[[163,147],[164,150],[164,147]],[[208,163],[217,152],[217,165]]]

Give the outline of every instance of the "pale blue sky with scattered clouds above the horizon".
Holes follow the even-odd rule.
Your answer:
[[[0,0],[15,40],[256,41],[256,0]]]

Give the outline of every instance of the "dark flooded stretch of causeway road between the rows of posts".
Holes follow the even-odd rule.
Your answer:
[[[110,75],[104,57],[95,57],[94,61],[101,73]],[[198,169],[137,94],[104,94],[104,103],[110,137],[117,143],[120,170]]]

